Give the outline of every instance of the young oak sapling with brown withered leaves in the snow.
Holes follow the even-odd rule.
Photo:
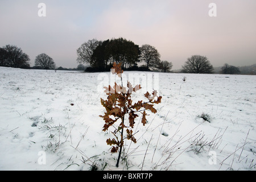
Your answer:
[[[148,101],[143,102],[141,100],[133,104],[133,100],[131,100],[131,93],[137,92],[139,89],[141,89],[141,85],[136,85],[133,88],[133,86],[128,81],[127,87],[123,86],[123,70],[121,69],[121,63],[113,64],[112,73],[114,75],[116,74],[118,77],[121,78],[121,85],[118,85],[115,82],[113,88],[110,85],[108,87],[104,87],[105,93],[108,95],[108,98],[107,100],[103,100],[101,98],[101,105],[105,107],[106,112],[104,113],[104,115],[100,115],[100,117],[102,117],[105,121],[103,131],[108,130],[109,127],[113,126],[115,122],[121,120],[119,126],[115,127],[114,132],[112,132],[115,138],[109,138],[106,140],[107,144],[113,146],[111,152],[114,153],[118,152],[119,150],[116,164],[116,167],[118,167],[123,147],[123,140],[128,139],[132,140],[134,143],[137,142],[136,138],[134,137],[135,133],[132,129],[135,124],[135,118],[139,116],[138,113],[142,114],[142,124],[144,126],[147,121],[146,110],[150,110],[152,113],[156,113],[156,109],[153,106],[154,104],[159,104],[161,102],[162,96],[156,96],[157,92],[154,90],[154,92],[152,92],[152,96],[148,92],[144,94]],[[125,115],[128,115],[129,119],[127,124],[125,123]],[[124,134],[124,129],[126,129],[126,135]]]

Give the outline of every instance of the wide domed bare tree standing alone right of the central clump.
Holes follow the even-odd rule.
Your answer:
[[[182,66],[184,73],[213,73],[213,66],[205,56],[193,55]]]

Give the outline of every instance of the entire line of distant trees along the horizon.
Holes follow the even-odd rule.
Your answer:
[[[21,48],[13,45],[0,47],[0,67],[101,72],[109,71],[114,61],[121,62],[122,69],[127,71],[170,72],[172,69],[170,61],[160,60],[160,53],[155,47],[148,44],[139,47],[123,38],[105,41],[92,39],[83,43],[77,49],[77,62],[80,63],[77,68],[57,68],[52,57],[46,53],[36,56],[34,67],[30,67],[30,57]],[[90,67],[86,68],[85,63]],[[238,68],[225,63],[219,71],[214,72],[213,65],[210,64],[208,58],[201,55],[188,57],[182,68],[183,73],[256,75],[256,64]]]

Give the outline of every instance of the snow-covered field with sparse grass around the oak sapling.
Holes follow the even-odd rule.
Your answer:
[[[116,168],[99,73],[0,67],[0,170],[255,170],[256,76],[152,74],[158,113]]]

